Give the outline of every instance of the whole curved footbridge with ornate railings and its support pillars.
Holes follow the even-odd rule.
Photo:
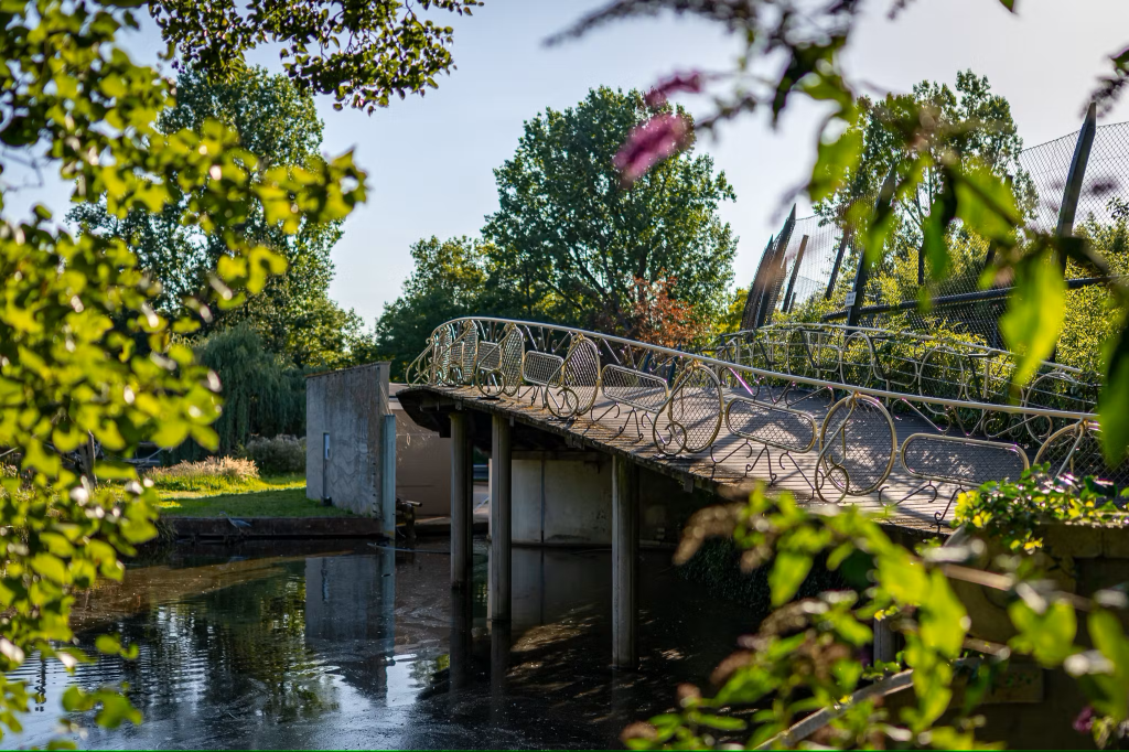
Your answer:
[[[470,534],[465,416],[493,416],[491,605],[505,617],[516,422],[612,455],[612,540],[625,557],[636,545],[640,466],[686,488],[761,479],[802,500],[896,505],[895,517],[918,526],[939,526],[959,490],[1015,479],[1032,463],[1129,482],[1129,465],[1102,460],[1096,386],[1044,364],[1012,399],[1014,365],[1003,350],[829,324],[768,326],[683,352],[545,324],[462,318],[432,333],[409,368],[415,388],[400,399],[417,420],[449,427],[455,439],[456,584],[466,578]],[[625,578],[616,585],[630,591],[633,557],[613,559],[614,577]],[[630,655],[632,638],[624,640]],[[620,649],[618,641],[618,661]]]

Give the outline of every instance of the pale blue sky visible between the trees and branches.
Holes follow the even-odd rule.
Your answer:
[[[851,80],[866,93],[908,91],[924,79],[952,84],[959,70],[988,76],[994,91],[1012,104],[1026,146],[1076,131],[1108,58],[1129,45],[1126,0],[1018,0],[1018,15],[998,0],[916,0],[891,20],[892,0],[870,0],[868,15],[844,58]],[[335,112],[317,99],[325,122],[324,150],[352,149],[368,174],[368,202],[344,225],[333,250],[336,277],[331,296],[355,309],[368,326],[411,273],[411,244],[475,235],[498,208],[493,169],[513,156],[523,123],[545,107],[562,110],[589,88],[646,89],[689,69],[732,69],[738,45],[717,26],[658,17],[628,20],[579,41],[546,47],[545,37],[567,27],[597,0],[485,0],[471,18],[434,12],[455,27],[457,70],[438,79],[426,97],[395,100],[373,115]],[[160,40],[151,24],[129,41],[138,59],[152,60]],[[252,61],[280,71],[271,50]],[[691,113],[708,102],[679,99]],[[773,129],[762,115],[727,124],[698,149],[710,154],[737,195],[721,204],[723,220],[741,242],[736,285],[747,285],[769,236],[789,206],[782,199],[800,184],[814,160],[814,106],[796,100]],[[1099,122],[1129,120],[1129,97]],[[65,212],[65,186],[49,182],[19,201],[43,201]],[[18,203],[9,201],[9,209]],[[800,206],[800,217],[807,207]]]

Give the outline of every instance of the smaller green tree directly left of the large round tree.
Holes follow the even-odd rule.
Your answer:
[[[411,247],[414,268],[403,292],[384,306],[376,323],[376,352],[392,361],[392,377],[427,346],[427,338],[445,321],[482,314],[485,298],[487,247],[476,238],[439,241],[436,236]]]

